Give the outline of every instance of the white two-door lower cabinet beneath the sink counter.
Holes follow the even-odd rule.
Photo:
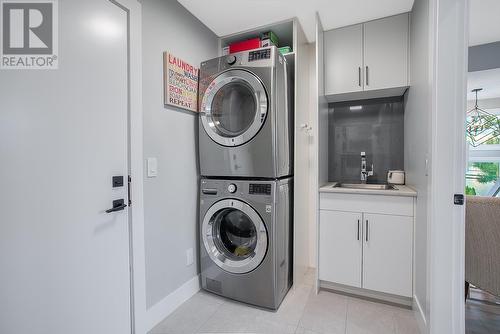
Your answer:
[[[407,205],[397,211],[413,212],[413,199]],[[413,216],[348,209],[320,210],[319,279],[411,298]]]

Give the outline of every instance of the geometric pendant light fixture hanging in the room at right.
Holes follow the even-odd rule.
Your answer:
[[[479,108],[477,104],[477,93],[482,90],[472,90],[476,93],[476,103],[474,108],[467,112],[467,141],[474,147],[500,137],[500,118]]]

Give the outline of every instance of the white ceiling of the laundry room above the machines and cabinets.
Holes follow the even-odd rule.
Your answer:
[[[178,0],[216,35],[297,17],[309,42],[318,12],[325,30],[409,12],[414,0]],[[484,1],[484,0],[475,0]],[[492,2],[498,0],[489,0]],[[500,2],[500,1],[498,1]]]

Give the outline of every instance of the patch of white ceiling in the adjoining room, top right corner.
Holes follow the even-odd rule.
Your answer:
[[[469,45],[500,41],[500,1],[470,0]]]

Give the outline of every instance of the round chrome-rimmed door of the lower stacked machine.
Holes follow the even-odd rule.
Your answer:
[[[202,224],[208,255],[227,272],[243,274],[257,268],[267,251],[264,222],[248,204],[225,199],[212,205]]]

